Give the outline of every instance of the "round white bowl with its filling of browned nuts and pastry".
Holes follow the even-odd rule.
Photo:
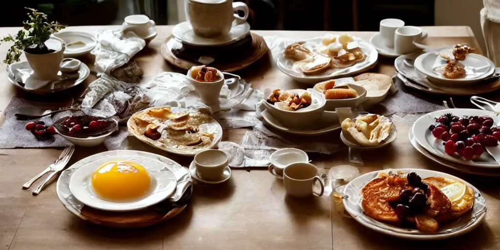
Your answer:
[[[313,89],[264,89],[262,104],[288,128],[307,128],[324,111],[324,95]]]

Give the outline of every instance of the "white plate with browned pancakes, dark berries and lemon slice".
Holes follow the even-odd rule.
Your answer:
[[[400,238],[458,236],[477,227],[486,214],[477,188],[453,175],[426,169],[368,172],[347,183],[342,192],[344,209],[357,222]]]

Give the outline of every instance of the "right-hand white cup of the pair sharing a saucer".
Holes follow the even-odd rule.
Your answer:
[[[409,54],[418,50],[413,42],[420,43],[423,38],[422,30],[416,26],[399,27],[394,32],[394,52]]]

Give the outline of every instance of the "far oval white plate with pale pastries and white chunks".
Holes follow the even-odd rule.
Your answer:
[[[375,47],[347,33],[327,33],[287,45],[278,68],[294,80],[317,83],[372,68],[378,59]]]

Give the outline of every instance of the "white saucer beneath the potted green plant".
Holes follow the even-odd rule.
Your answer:
[[[22,90],[35,94],[55,93],[74,87],[90,74],[90,69],[85,63],[80,63],[78,71],[72,74],[59,71],[58,75],[60,78],[52,81],[36,79],[33,75],[33,69],[31,69],[27,61],[14,62],[7,65],[6,70],[7,78],[12,84]],[[33,87],[26,86],[26,83]]]

